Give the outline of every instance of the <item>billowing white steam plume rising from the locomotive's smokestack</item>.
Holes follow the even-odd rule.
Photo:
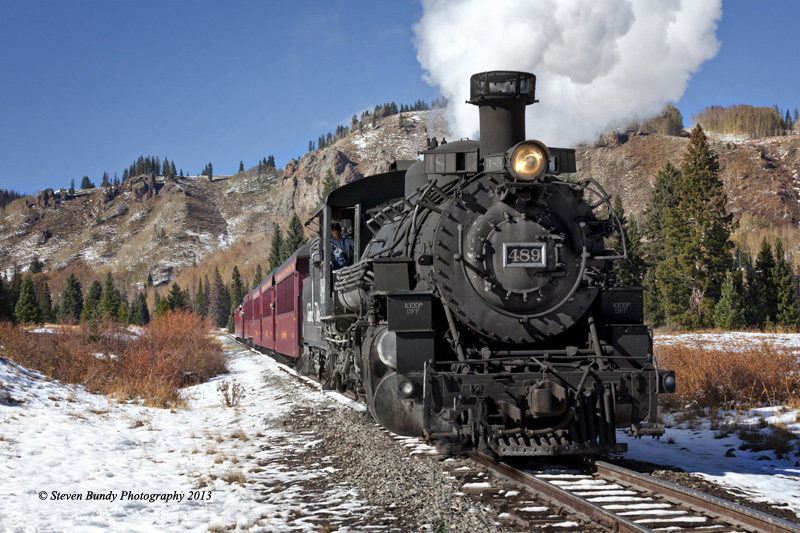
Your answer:
[[[527,136],[551,146],[594,140],[676,102],[719,49],[721,0],[423,0],[414,26],[425,79],[450,100],[457,137],[476,137],[469,77],[536,74]],[[685,117],[688,119],[689,117]]]

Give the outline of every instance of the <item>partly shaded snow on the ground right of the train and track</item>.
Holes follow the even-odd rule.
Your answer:
[[[735,350],[752,344],[770,342],[800,350],[798,334],[767,333],[687,333],[658,335],[656,345],[702,343],[710,349]],[[678,382],[680,387],[680,382]],[[769,450],[742,450],[742,441],[726,428],[779,426],[800,435],[800,409],[785,405],[742,411],[721,411],[711,417],[665,416],[666,434],[659,440],[633,439],[630,432],[618,431],[621,442],[628,444],[626,457],[638,461],[670,465],[697,474],[748,499],[785,506],[800,516],[800,456],[798,443],[794,452],[778,457]],[[712,424],[716,429],[712,429]],[[766,428],[762,428],[766,430]]]

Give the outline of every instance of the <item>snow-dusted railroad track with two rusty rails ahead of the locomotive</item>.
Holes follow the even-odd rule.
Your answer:
[[[479,453],[469,457],[550,505],[610,531],[800,533],[797,524],[603,461],[531,471]]]

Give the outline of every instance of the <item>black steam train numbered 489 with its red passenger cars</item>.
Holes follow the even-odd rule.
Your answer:
[[[402,435],[498,456],[624,451],[615,428],[663,434],[641,287],[619,287],[624,232],[575,151],[525,139],[536,78],[470,78],[480,141],[429,141],[420,161],[344,185],[315,236],[244,299],[236,337]],[[355,260],[333,271],[339,222]],[[605,238],[623,235],[622,250]]]

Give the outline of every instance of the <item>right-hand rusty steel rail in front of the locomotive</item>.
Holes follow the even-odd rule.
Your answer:
[[[701,510],[736,527],[744,527],[747,531],[800,533],[800,526],[797,524],[717,498],[716,496],[604,461],[594,461],[590,465],[594,466],[598,475],[608,480],[654,492],[668,501],[686,505],[695,510]]]

